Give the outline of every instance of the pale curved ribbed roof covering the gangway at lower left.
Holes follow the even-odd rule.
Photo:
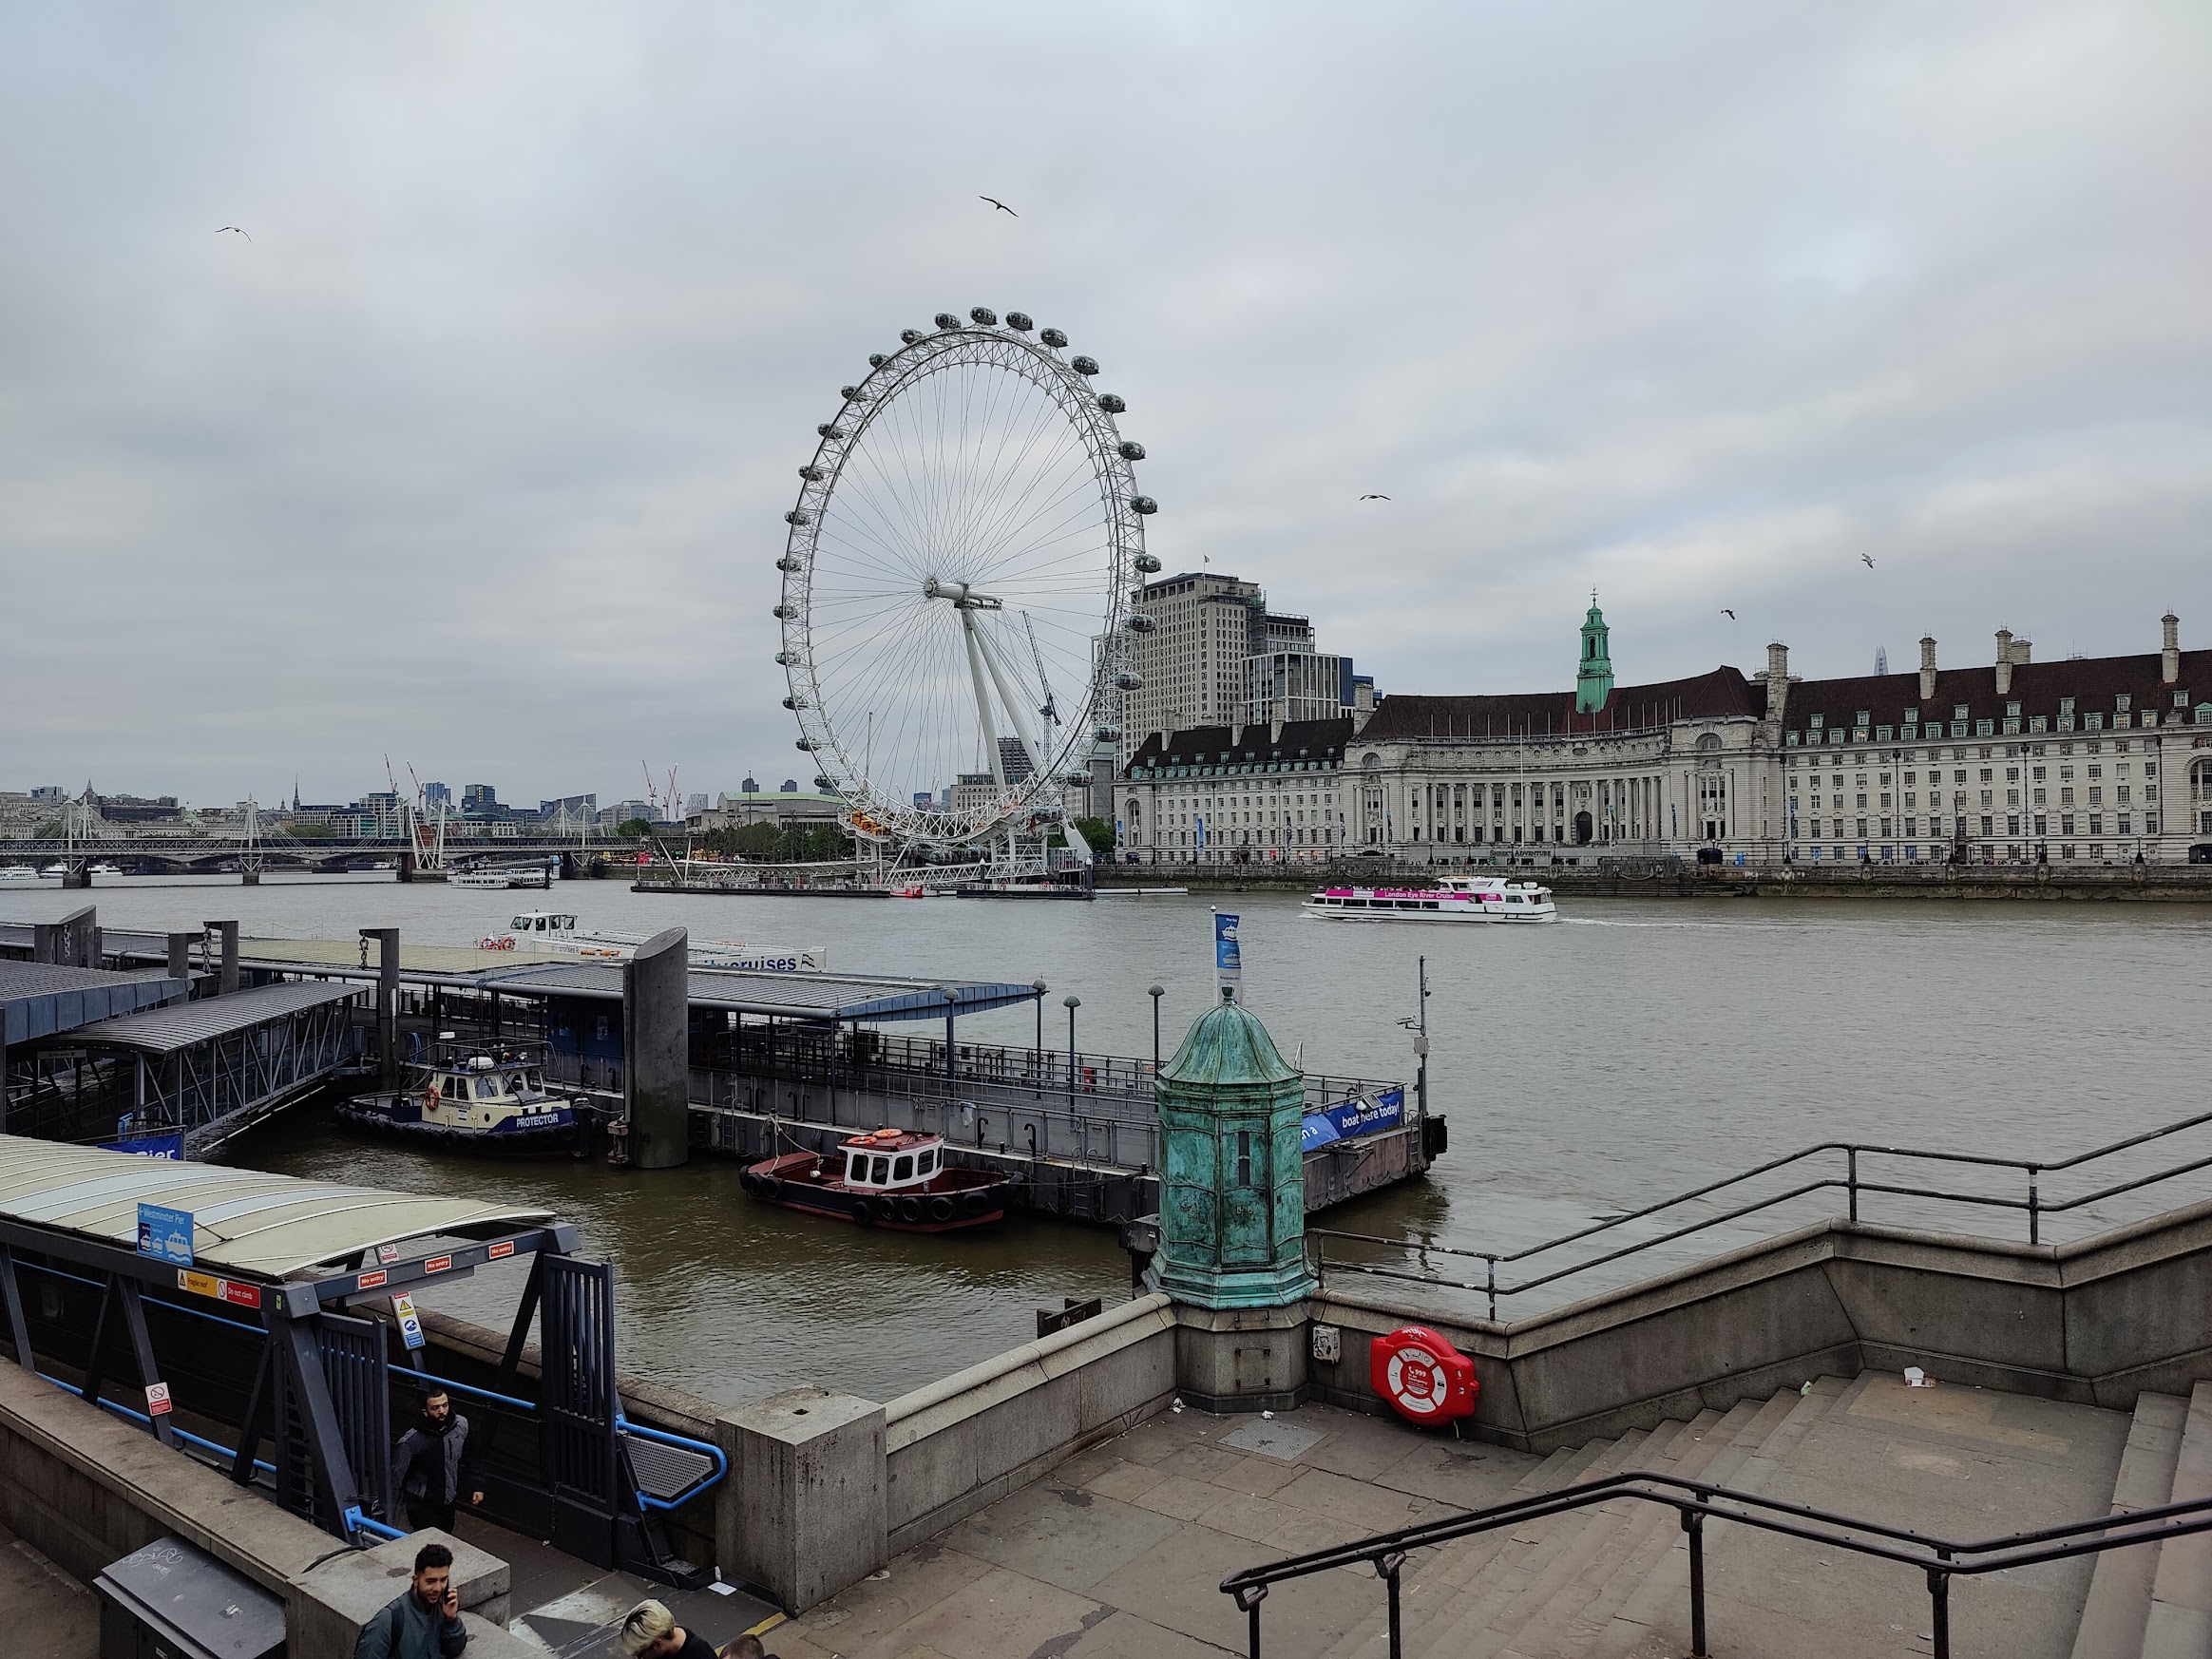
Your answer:
[[[290,1279],[380,1243],[544,1225],[551,1210],[301,1181],[0,1135],[0,1217],[137,1245],[139,1203],[192,1212],[195,1267]]]

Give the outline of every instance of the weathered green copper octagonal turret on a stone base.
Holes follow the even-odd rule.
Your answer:
[[[1175,1371],[1206,1411],[1305,1398],[1305,1077],[1248,1009],[1210,1009],[1159,1073],[1157,1287]]]

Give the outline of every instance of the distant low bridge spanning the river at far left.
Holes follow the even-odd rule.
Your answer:
[[[588,818],[553,818],[535,834],[495,834],[509,825],[422,821],[407,814],[396,834],[345,841],[301,841],[265,825],[246,805],[237,825],[175,834],[122,834],[88,807],[71,801],[62,834],[44,841],[0,841],[0,865],[62,867],[64,887],[91,887],[97,865],[146,872],[237,874],[248,887],[263,869],[396,869],[400,880],[440,880],[473,865],[546,865],[562,860],[564,876],[584,876],[608,856],[628,860],[633,843],[617,841]]]

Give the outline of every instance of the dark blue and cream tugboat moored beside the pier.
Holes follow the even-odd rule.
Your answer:
[[[440,1042],[409,1066],[398,1093],[354,1095],[338,1117],[358,1128],[462,1152],[580,1152],[591,1106],[546,1093],[538,1057],[520,1046]]]

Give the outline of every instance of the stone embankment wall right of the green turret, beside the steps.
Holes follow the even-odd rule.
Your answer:
[[[1314,1391],[1380,1411],[1367,1343],[1427,1325],[1475,1360],[1475,1431],[1526,1451],[1725,1411],[1820,1374],[1920,1365],[2121,1411],[2143,1389],[2212,1378],[2212,1203],[2070,1245],[1829,1221],[1511,1325],[1358,1283],[1343,1274],[1307,1303],[1340,1332]]]

